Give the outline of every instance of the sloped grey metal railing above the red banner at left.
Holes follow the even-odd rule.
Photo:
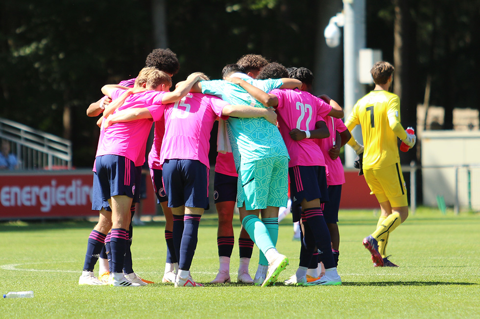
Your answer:
[[[69,140],[2,118],[0,138],[12,143],[19,169],[72,169],[72,142]]]

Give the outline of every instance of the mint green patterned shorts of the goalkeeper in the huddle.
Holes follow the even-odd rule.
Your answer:
[[[240,163],[237,184],[237,206],[245,203],[247,211],[267,206],[287,207],[288,157],[269,157]]]

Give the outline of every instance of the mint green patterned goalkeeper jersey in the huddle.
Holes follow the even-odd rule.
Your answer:
[[[280,79],[255,80],[240,73],[235,73],[231,77],[240,77],[266,93],[283,85]],[[231,105],[264,107],[239,85],[224,80],[202,81],[202,93],[216,95]],[[237,118],[231,116],[226,121],[226,125],[237,171],[240,159],[243,163],[248,163],[268,157],[288,157],[287,147],[280,131],[263,117]]]

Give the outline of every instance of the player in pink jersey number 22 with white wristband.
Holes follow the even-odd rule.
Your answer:
[[[287,70],[285,69],[284,72]],[[284,75],[269,76],[276,78]],[[332,108],[323,100],[298,89],[275,89],[270,94],[266,94],[239,79],[232,79],[232,81],[245,88],[265,106],[276,107],[280,133],[290,156],[288,171],[293,205],[301,205],[303,209],[301,216],[304,230],[303,244],[310,254],[316,246],[319,252],[326,255],[326,275],[318,284],[341,284],[332,255],[328,228],[320,206],[321,201],[328,198],[325,159],[315,142],[310,140],[310,138],[329,136],[323,117],[326,115],[343,117],[341,107],[335,105]],[[291,276],[286,284],[307,284],[307,269],[312,255],[303,254],[303,256],[308,258],[300,260],[296,274]]]

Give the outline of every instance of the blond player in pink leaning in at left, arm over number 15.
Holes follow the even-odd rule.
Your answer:
[[[148,76],[147,88],[156,91],[144,91],[128,96],[121,109],[140,108],[147,106],[150,116],[160,119],[163,116],[164,104],[176,102],[190,90],[198,79],[198,74],[189,76],[187,81],[179,85],[173,92],[168,92],[171,80],[168,74],[155,70]],[[135,93],[138,87],[128,89],[127,93]],[[102,92],[115,100],[122,93],[118,85],[105,85]],[[115,102],[114,102],[115,103]],[[114,104],[112,103],[112,104]],[[104,113],[108,114],[108,108]],[[116,110],[117,111],[117,110]],[[115,111],[115,112],[116,112]],[[112,232],[110,246],[112,251],[112,285],[138,285],[123,276],[122,268],[127,241],[126,228],[131,218],[126,218],[130,212],[132,198],[135,194],[135,174],[137,166],[142,166],[145,153],[145,143],[151,128],[151,121],[140,119],[129,123],[110,126],[105,120],[105,132],[96,154],[96,172],[100,182],[101,196],[108,200],[112,208]],[[95,195],[94,195],[95,196]],[[99,194],[96,194],[99,196]]]

